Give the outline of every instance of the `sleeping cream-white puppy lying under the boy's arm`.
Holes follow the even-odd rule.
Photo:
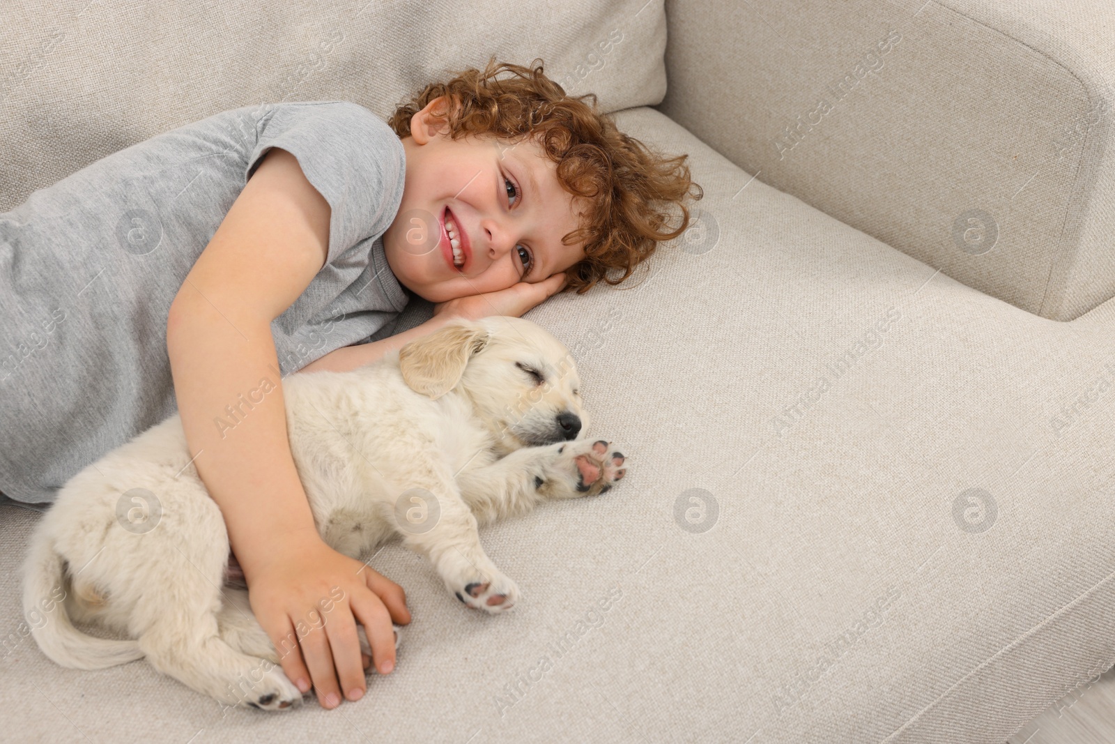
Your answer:
[[[513,317],[455,320],[352,371],[285,377],[291,452],[322,539],[362,560],[399,534],[450,596],[508,609],[518,588],[477,525],[544,499],[599,495],[626,472],[610,443],[584,438],[578,387],[565,346]],[[290,707],[302,695],[275,666],[191,457],[174,414],[70,479],[31,535],[23,613],[62,666],[146,657],[226,705]],[[70,618],[133,640],[91,637]]]

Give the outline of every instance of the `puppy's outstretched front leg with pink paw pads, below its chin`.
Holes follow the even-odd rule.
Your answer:
[[[546,499],[599,496],[627,473],[623,454],[603,439],[523,447],[457,475],[460,496],[481,524],[523,514]]]

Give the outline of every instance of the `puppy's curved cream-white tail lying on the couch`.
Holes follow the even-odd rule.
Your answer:
[[[23,619],[48,658],[72,669],[104,669],[145,656],[138,641],[95,638],[75,628],[66,613],[69,588],[62,557],[49,540],[32,540],[23,563]]]

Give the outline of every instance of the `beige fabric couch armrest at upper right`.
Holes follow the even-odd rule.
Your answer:
[[[1041,317],[1115,296],[1115,3],[666,10],[658,108],[748,173]]]

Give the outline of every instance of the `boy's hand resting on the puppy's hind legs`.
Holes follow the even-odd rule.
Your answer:
[[[410,622],[403,588],[318,534],[292,535],[245,579],[252,611],[274,644],[282,670],[303,693],[312,679],[323,708],[340,705],[341,689],[350,700],[367,690],[357,620],[376,669],[394,668],[391,621]]]

